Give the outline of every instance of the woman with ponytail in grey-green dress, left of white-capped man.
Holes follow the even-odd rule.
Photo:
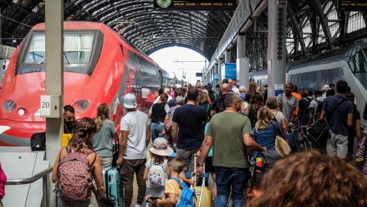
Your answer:
[[[101,157],[102,169],[112,166],[112,139],[118,138],[115,124],[109,118],[108,105],[100,104],[97,107],[97,118],[95,119],[97,132],[92,140],[92,147]]]

